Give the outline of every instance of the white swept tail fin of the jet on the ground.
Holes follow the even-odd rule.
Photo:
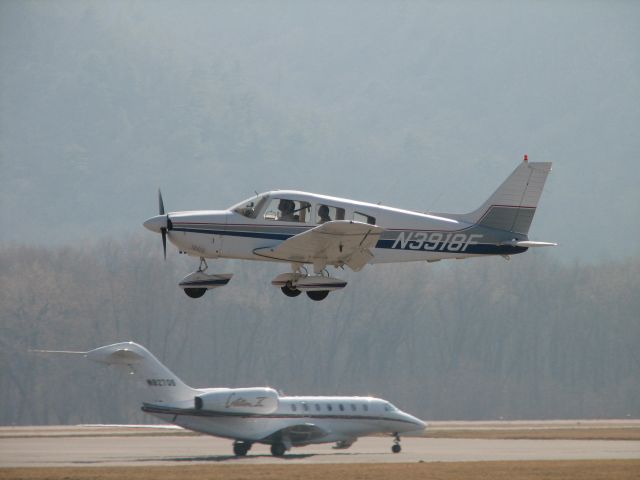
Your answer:
[[[182,382],[153,354],[134,342],[105,345],[85,353],[94,362],[115,365],[128,373],[138,375],[144,386],[147,403],[177,403],[189,400],[199,393]]]

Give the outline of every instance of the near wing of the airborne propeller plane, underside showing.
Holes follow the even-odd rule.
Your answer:
[[[254,253],[289,262],[347,265],[357,272],[373,258],[371,249],[382,232],[384,228],[376,225],[334,220],[294,235],[277,246],[258,248]]]

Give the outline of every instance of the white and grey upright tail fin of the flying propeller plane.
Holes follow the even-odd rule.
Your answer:
[[[550,171],[551,162],[529,163],[525,157],[480,208],[458,218],[483,227],[527,235]]]

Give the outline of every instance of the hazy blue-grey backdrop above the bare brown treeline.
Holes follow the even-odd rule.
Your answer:
[[[296,188],[474,209],[553,161],[531,230],[638,254],[638,2],[0,3],[0,239],[139,233]]]

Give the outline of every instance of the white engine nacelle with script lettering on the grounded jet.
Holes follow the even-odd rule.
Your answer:
[[[273,388],[230,388],[195,397],[196,410],[229,413],[273,413],[278,408],[278,392]]]

